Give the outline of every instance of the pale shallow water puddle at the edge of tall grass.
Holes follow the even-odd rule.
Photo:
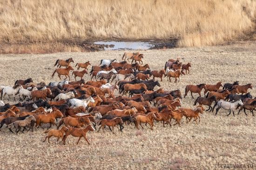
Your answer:
[[[149,42],[98,41],[94,44],[104,45],[104,50],[148,50],[155,47]]]

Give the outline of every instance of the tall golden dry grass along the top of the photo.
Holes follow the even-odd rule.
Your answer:
[[[1,0],[0,43],[179,38],[179,47],[216,45],[248,36],[255,20],[254,0]]]

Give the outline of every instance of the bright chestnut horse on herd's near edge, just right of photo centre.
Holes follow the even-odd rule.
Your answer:
[[[135,117],[135,126],[139,130],[139,125],[144,129],[141,123],[148,123],[150,125],[150,129],[153,130],[153,121],[155,120],[156,116],[154,112],[148,113],[146,116],[138,115]]]

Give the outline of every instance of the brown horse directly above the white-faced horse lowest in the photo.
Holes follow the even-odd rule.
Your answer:
[[[57,129],[59,129],[59,127],[63,123],[65,124],[65,126],[81,127],[84,125],[89,125],[91,121],[89,120],[88,117],[81,117],[81,118],[65,117],[61,119],[59,125],[57,126]]]

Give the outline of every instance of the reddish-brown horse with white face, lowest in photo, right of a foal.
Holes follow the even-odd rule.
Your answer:
[[[84,129],[80,129],[80,128],[75,128],[75,127],[68,127],[68,131],[66,132],[65,136],[63,137],[63,144],[66,144],[66,139],[68,135],[72,135],[74,137],[79,137],[78,141],[76,142],[76,144],[78,145],[78,142],[80,141],[81,137],[84,137],[84,139],[87,141],[88,145],[90,145],[87,137],[86,137],[86,133],[88,131],[95,131],[94,127],[92,125],[87,126]]]

